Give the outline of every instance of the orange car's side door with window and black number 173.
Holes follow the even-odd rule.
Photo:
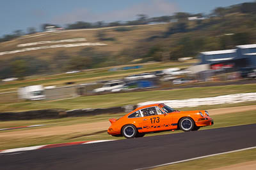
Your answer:
[[[141,110],[143,114],[143,122],[141,122],[141,128],[143,132],[152,132],[152,131],[164,131],[170,129],[170,127],[166,126],[170,124],[171,120],[169,120],[167,115],[161,111],[159,113],[158,107],[149,107]]]

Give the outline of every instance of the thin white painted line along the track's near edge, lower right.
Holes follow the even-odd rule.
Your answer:
[[[161,165],[157,165],[157,166],[141,167],[141,168],[134,169],[134,170],[152,169],[152,168],[155,168],[155,167],[169,166],[169,165],[177,164],[177,163],[181,163],[181,162],[188,162],[190,160],[202,159],[202,158],[212,157],[212,156],[216,156],[216,155],[223,155],[223,154],[226,154],[226,153],[239,152],[239,151],[243,151],[243,150],[251,150],[251,149],[255,149],[255,148],[256,148],[256,146],[253,146],[253,147],[250,147],[250,148],[243,148],[243,149],[240,149],[240,150],[232,150],[232,151],[228,151],[228,152],[215,153],[215,154],[212,154],[212,155],[205,155],[205,156],[202,156],[202,157],[195,157],[195,158],[191,158],[191,159],[179,160],[179,161],[176,161],[176,162],[170,162],[170,163],[161,164]]]

